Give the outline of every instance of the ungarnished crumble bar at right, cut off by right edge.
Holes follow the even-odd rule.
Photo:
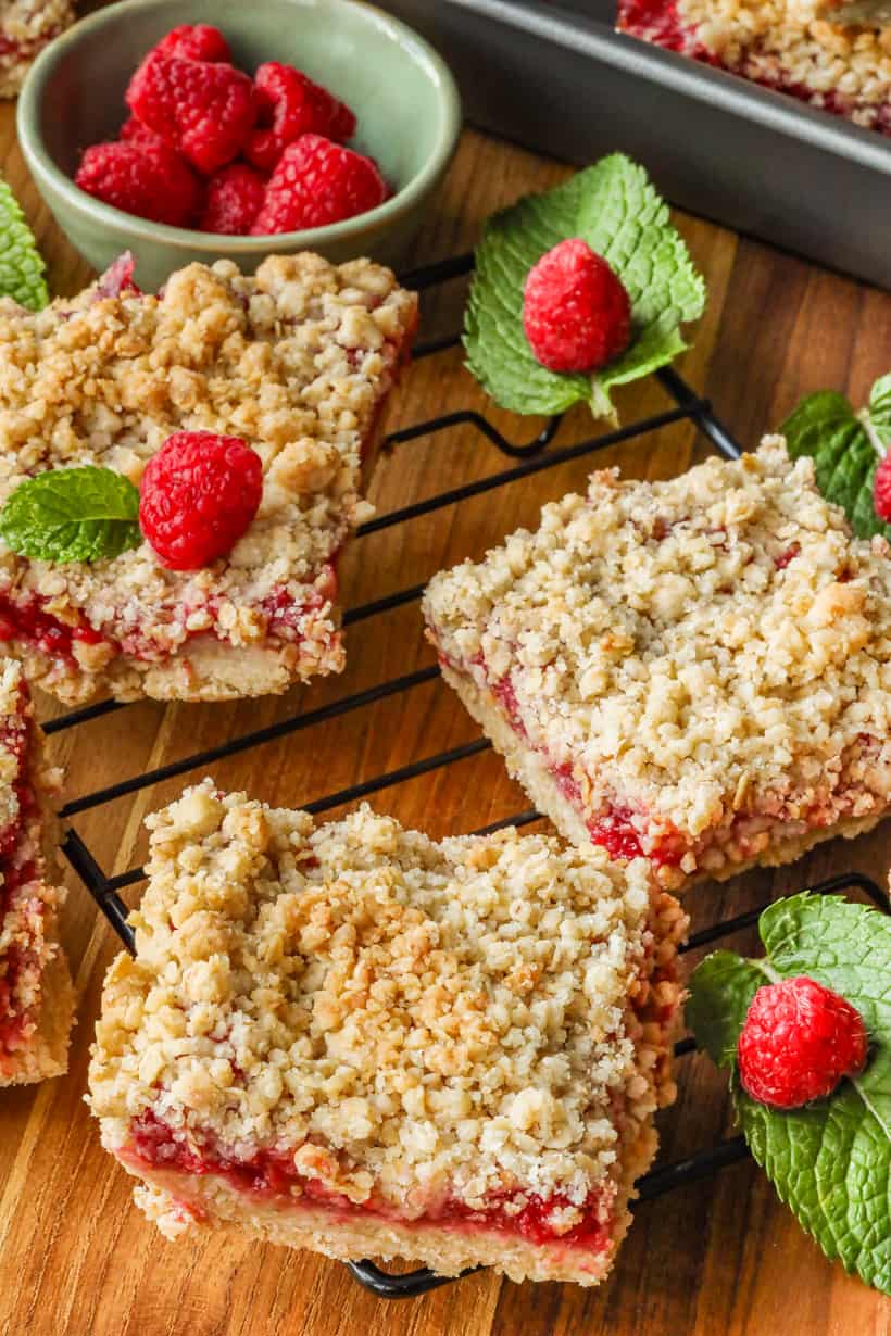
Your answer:
[[[891,802],[891,560],[781,437],[596,473],[430,582],[442,672],[562,834],[663,886],[789,862]]]

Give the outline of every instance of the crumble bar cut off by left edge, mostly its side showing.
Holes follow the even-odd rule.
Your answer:
[[[47,883],[41,768],[21,667],[0,664],[0,1086],[68,1069],[73,989]]]

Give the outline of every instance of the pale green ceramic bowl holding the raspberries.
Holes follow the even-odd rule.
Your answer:
[[[393,198],[330,227],[275,236],[218,236],[134,218],[79,190],[88,144],[114,139],[127,115],[134,69],[180,23],[211,23],[252,73],[264,60],[305,69],[358,116],[354,144],[371,154]],[[136,257],[136,281],[156,290],[191,261],[232,259],[251,273],[271,254],[314,250],[342,262],[398,263],[454,152],[461,110],[441,57],[405,24],[354,0],[123,0],[57,37],[35,63],[19,100],[19,140],[37,188],[72,246],[106,269]]]

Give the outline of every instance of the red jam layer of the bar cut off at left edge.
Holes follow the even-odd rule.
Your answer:
[[[25,691],[21,689],[21,705],[25,705]],[[17,938],[27,933],[27,925],[35,915],[43,912],[43,903],[29,902],[28,887],[37,875],[33,858],[29,854],[27,838],[28,823],[37,811],[37,799],[28,774],[28,720],[21,716],[8,716],[0,725],[0,751],[13,756],[16,778],[12,787],[17,799],[17,812],[0,831],[0,933],[7,926],[11,912],[16,914]],[[21,1047],[27,1033],[33,1026],[32,1009],[23,1002],[21,989],[25,975],[39,969],[39,955],[29,941],[13,941],[0,955],[0,1065]]]

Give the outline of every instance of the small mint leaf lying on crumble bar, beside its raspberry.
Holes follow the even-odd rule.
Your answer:
[[[139,492],[111,469],[48,469],[0,509],[0,537],[41,561],[99,561],[142,542]]]

